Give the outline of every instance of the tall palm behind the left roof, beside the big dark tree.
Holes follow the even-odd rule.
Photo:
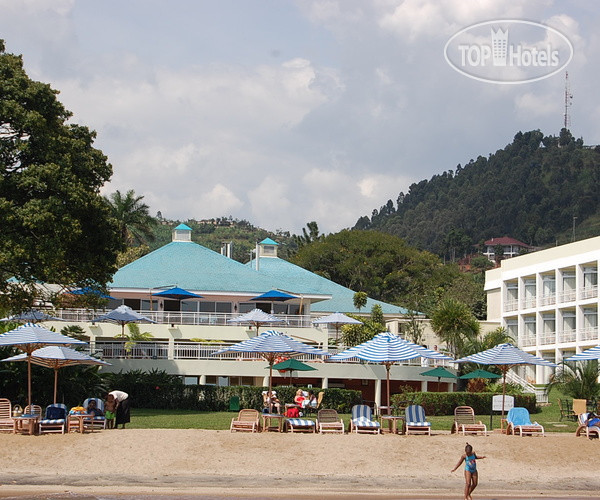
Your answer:
[[[142,203],[143,199],[143,196],[136,196],[133,189],[125,195],[117,190],[106,198],[113,217],[119,222],[121,238],[128,246],[154,239],[152,228],[156,219],[148,213],[150,207]]]

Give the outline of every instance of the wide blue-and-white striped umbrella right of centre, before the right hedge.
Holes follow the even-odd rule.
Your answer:
[[[451,357],[446,356],[441,352],[413,344],[391,332],[378,333],[371,340],[367,340],[362,344],[331,356],[329,360],[343,361],[350,358],[358,358],[371,363],[381,363],[385,365],[388,408],[390,407],[390,368],[394,363],[415,358],[452,361]]]

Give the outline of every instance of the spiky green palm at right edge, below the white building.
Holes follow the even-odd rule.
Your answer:
[[[574,399],[597,399],[600,396],[600,367],[598,361],[566,362],[550,377],[546,392],[558,388]]]

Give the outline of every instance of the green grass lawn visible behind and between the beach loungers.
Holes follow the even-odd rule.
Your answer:
[[[560,421],[557,399],[564,397],[558,391],[550,394],[550,404],[541,408],[540,413],[531,415],[531,419],[542,424],[547,432],[575,432],[577,423],[573,421]],[[132,429],[229,429],[231,419],[237,415],[233,412],[197,412],[191,410],[152,410],[147,408],[134,408],[131,411]],[[350,415],[340,415],[347,424]],[[312,418],[312,417],[309,417]],[[428,417],[433,430],[450,430],[453,423],[452,416]],[[490,426],[489,415],[478,415],[484,424]],[[495,414],[493,428],[500,426],[500,415]]]

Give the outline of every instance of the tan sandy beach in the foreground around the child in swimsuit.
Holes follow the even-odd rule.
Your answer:
[[[573,434],[463,437],[118,429],[0,435],[0,497],[461,498],[450,470],[466,441],[474,498],[600,498],[600,443]],[[593,464],[590,466],[590,464]]]

